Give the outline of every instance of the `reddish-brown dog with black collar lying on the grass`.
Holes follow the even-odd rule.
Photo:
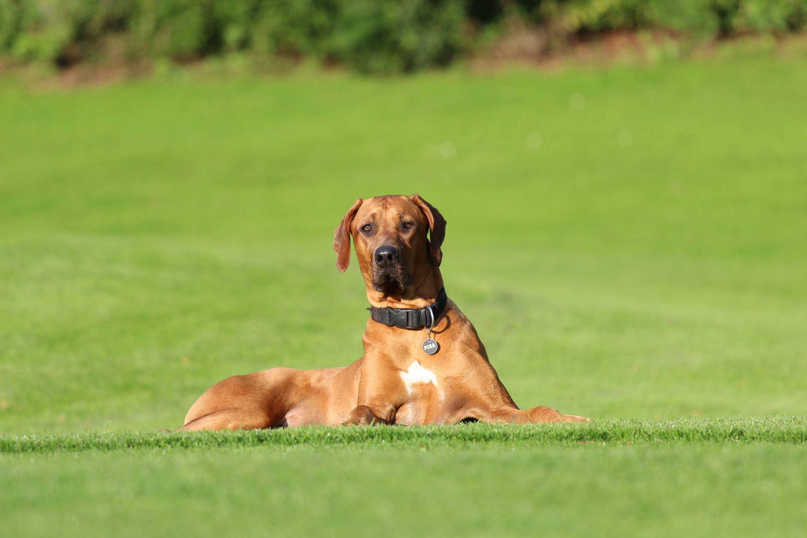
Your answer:
[[[474,326],[445,294],[445,219],[429,202],[417,194],[359,198],[333,232],[342,273],[351,238],[370,302],[364,357],[345,368],[228,377],[196,400],[180,430],[587,420],[516,407]]]

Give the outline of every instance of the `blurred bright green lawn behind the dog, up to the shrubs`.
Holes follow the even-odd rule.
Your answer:
[[[804,414],[805,68],[6,84],[0,432],[173,428],[224,377],[348,365],[332,230],[414,192],[521,407]]]

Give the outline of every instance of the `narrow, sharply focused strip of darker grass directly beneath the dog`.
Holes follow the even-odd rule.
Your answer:
[[[807,419],[611,420],[583,424],[297,427],[237,432],[82,432],[2,436],[0,454],[218,448],[534,448],[583,444],[803,444]]]

